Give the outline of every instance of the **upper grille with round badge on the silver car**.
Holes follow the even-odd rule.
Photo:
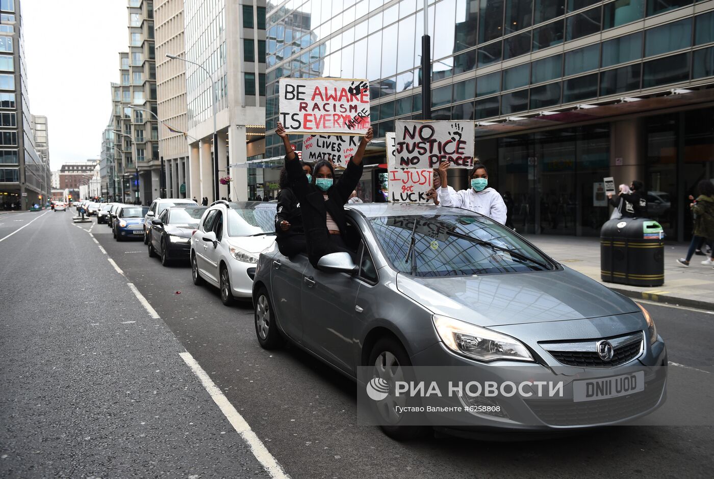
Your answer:
[[[613,346],[613,357],[609,361],[600,358],[598,354],[598,339],[588,341],[574,341],[568,343],[541,343],[543,349],[553,356],[555,361],[565,366],[581,368],[612,368],[632,361],[640,356],[643,351],[643,333],[625,334],[607,339]]]

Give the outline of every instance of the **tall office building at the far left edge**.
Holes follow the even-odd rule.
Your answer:
[[[20,0],[0,0],[0,207],[44,205],[50,193],[47,155],[34,145]],[[45,152],[46,153],[46,152]]]

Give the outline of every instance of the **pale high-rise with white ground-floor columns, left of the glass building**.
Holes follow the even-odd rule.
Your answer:
[[[185,67],[188,169],[178,168],[172,182],[175,189],[178,180],[186,181],[187,197],[248,199],[246,160],[265,151],[265,13],[264,0],[183,2],[185,46],[167,41],[165,51],[193,63],[171,59],[161,65],[166,66],[167,77],[171,71],[181,71],[174,63]],[[166,29],[165,35],[170,38],[171,30]],[[171,47],[176,50],[169,51]],[[163,82],[161,86],[164,88]],[[161,98],[171,98],[179,91],[169,83],[166,90]],[[213,165],[213,148],[218,171]],[[176,164],[172,167],[176,171]],[[228,176],[233,181],[221,184],[220,179]],[[180,184],[178,188],[180,195]]]

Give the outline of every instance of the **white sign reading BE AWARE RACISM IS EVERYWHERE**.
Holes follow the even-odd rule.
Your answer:
[[[280,78],[278,121],[288,133],[365,135],[369,83],[344,78]]]

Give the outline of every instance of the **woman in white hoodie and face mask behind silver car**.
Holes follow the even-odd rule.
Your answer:
[[[445,161],[439,165],[439,177],[441,177],[441,188],[438,189],[438,200],[441,206],[451,206],[463,208],[473,212],[481,213],[491,218],[491,220],[506,223],[506,203],[503,197],[493,188],[488,186],[488,170],[481,163],[476,163],[471,168],[471,187],[468,190],[449,191],[446,179],[446,171],[450,163]]]

